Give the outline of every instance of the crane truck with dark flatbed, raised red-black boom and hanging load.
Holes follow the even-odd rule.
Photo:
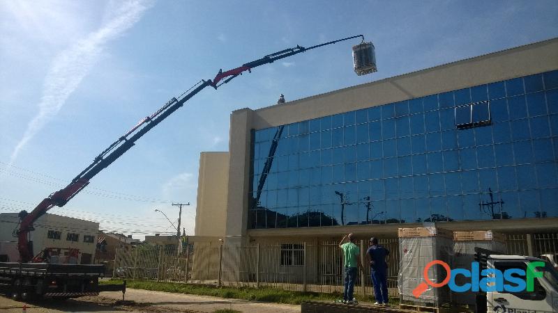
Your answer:
[[[17,250],[19,251],[18,262],[0,262],[0,291],[10,295],[12,298],[27,300],[36,297],[52,298],[75,298],[86,295],[96,295],[100,291],[122,291],[126,292],[126,282],[117,285],[99,285],[99,278],[105,273],[104,265],[97,264],[59,264],[52,262],[48,255],[33,256],[33,223],[43,216],[52,207],[63,207],[77,193],[85,188],[91,179],[101,170],[110,166],[119,159],[122,154],[130,150],[135,142],[148,131],[156,127],[165,118],[178,110],[191,97],[206,87],[217,90],[223,83],[228,83],[243,72],[251,70],[260,65],[273,63],[282,58],[293,56],[310,49],[334,44],[353,38],[362,38],[361,45],[353,47],[354,70],[357,74],[368,74],[375,72],[375,55],[373,45],[364,42],[363,35],[355,35],[340,40],[325,42],[312,47],[301,47],[297,45],[291,49],[285,49],[273,54],[268,54],[256,61],[245,63],[232,70],[219,70],[213,79],[202,79],[192,88],[179,97],[172,97],[165,105],[155,113],[140,120],[132,129],[119,137],[114,143],[93,159],[79,175],[77,175],[68,186],[56,191],[41,201],[31,212],[20,211],[18,214],[20,222],[15,229],[17,236]]]

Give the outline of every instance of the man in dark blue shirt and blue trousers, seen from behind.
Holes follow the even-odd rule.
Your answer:
[[[366,250],[370,261],[370,278],[374,284],[374,294],[376,296],[375,305],[388,305],[388,285],[387,285],[387,259],[389,250],[378,244],[377,238],[370,238],[370,246]]]

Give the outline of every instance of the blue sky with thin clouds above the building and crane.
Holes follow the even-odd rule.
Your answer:
[[[199,152],[227,151],[229,116],[558,36],[557,1],[1,1],[0,212],[30,211],[146,115],[200,79],[266,54],[363,34],[378,72],[352,71],[358,39],[206,88],[53,214],[141,238],[172,232]],[[175,224],[176,225],[176,224]]]

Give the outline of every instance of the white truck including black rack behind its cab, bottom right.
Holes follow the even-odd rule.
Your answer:
[[[509,289],[518,287],[515,282],[525,282],[526,287],[529,287],[529,280],[532,282],[531,288],[523,288],[522,291],[506,291],[504,289],[502,291],[488,290],[485,293],[479,293],[476,301],[477,312],[558,312],[558,272],[550,263],[537,257],[493,254],[492,251],[482,248],[475,248],[475,252],[475,259],[480,264],[481,271],[488,269],[489,271],[503,273],[500,276],[502,278],[501,282],[507,284],[510,287]],[[529,275],[529,268],[533,269],[531,275]],[[526,275],[518,274],[518,270],[526,273]],[[489,275],[495,277],[499,274]],[[528,291],[528,289],[531,289],[531,291]]]

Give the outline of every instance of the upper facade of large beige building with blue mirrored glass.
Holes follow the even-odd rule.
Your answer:
[[[222,208],[232,243],[396,236],[425,222],[556,232],[557,157],[552,39],[234,111],[228,164],[200,166],[227,188],[200,180],[213,202],[198,199],[197,220]]]

